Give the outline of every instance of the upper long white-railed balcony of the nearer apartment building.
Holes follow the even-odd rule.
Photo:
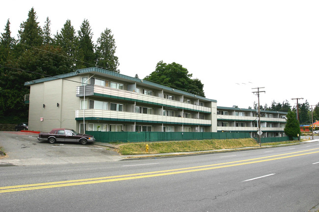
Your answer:
[[[125,91],[114,89],[110,87],[98,86],[98,85],[87,85],[85,86],[85,96],[90,95],[100,95],[108,98],[136,101],[141,103],[159,105],[164,107],[179,108],[190,111],[202,112],[202,113],[212,113],[212,108],[187,104],[180,101],[174,101],[170,99],[165,99],[157,96],[139,94],[132,91]],[[84,86],[77,87],[77,96],[84,96]]]

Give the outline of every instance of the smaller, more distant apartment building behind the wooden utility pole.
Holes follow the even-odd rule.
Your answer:
[[[261,111],[262,137],[283,137],[286,112]],[[257,111],[235,107],[217,107],[217,132],[249,132],[257,138]]]

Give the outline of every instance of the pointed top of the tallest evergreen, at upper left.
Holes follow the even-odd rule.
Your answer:
[[[40,47],[43,43],[42,33],[39,22],[37,22],[36,12],[32,7],[28,13],[27,21],[20,24],[19,43],[31,47]]]

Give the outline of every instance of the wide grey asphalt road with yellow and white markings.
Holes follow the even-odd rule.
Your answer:
[[[6,212],[308,212],[319,142],[173,158],[0,167]]]

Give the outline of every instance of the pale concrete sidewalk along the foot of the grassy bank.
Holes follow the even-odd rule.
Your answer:
[[[232,152],[232,151],[244,151],[250,149],[260,149],[260,148],[272,148],[278,146],[289,146],[289,145],[298,145],[310,142],[317,142],[319,139],[310,140],[310,141],[302,141],[297,143],[290,143],[290,144],[279,144],[279,145],[266,145],[266,146],[251,146],[251,147],[240,147],[240,148],[231,148],[231,149],[214,149],[214,150],[205,150],[205,151],[193,151],[193,152],[171,152],[171,153],[159,153],[159,154],[140,154],[140,155],[120,155],[118,157],[122,158],[123,160],[137,160],[137,159],[147,159],[147,158],[156,158],[156,157],[176,157],[176,156],[187,156],[187,155],[194,155],[194,154],[210,154],[216,152]],[[94,142],[95,145],[99,146],[106,146],[110,148],[116,148],[116,145],[112,143],[104,143],[104,142]]]

